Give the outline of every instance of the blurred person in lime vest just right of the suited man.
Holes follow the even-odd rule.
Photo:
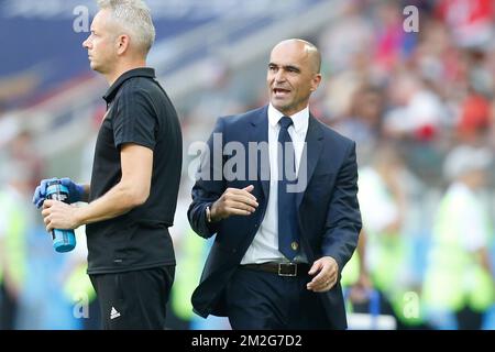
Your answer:
[[[383,314],[394,315],[399,328],[418,326],[418,316],[405,316],[408,283],[408,239],[405,219],[409,210],[407,166],[396,145],[378,144],[370,166],[360,169],[359,199],[366,233],[365,268],[382,296]]]

